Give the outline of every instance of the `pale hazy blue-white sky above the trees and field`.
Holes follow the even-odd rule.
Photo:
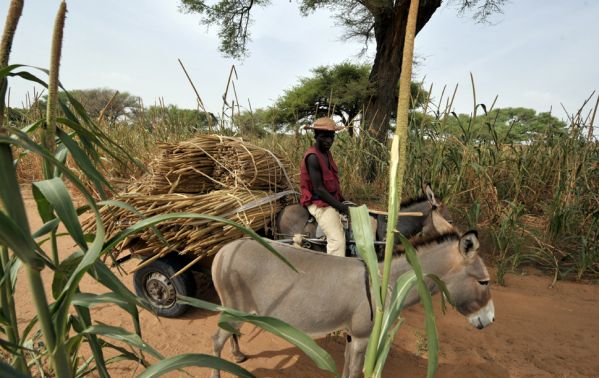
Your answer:
[[[472,110],[470,73],[477,102],[522,106],[563,118],[599,89],[599,0],[513,0],[491,24],[459,17],[455,4],[441,6],[416,38],[422,60],[415,79],[459,90],[458,113]],[[447,3],[447,1],[445,2]],[[4,20],[9,0],[0,0]],[[26,0],[11,63],[48,67],[58,0]],[[285,89],[320,65],[346,60],[371,63],[357,54],[362,44],[341,40],[342,29],[328,11],[302,17],[297,2],[273,0],[254,13],[250,56],[238,61],[218,51],[216,29],[197,15],[179,12],[179,1],[71,0],[60,80],[67,89],[111,88],[140,96],[145,105],[195,108],[195,94],[177,58],[186,65],[209,111],[220,113],[232,64],[241,105],[272,104]],[[43,76],[43,75],[42,75]],[[20,106],[32,85],[11,79],[11,105]],[[446,91],[446,92],[447,92]],[[594,104],[596,97],[593,97]],[[589,108],[589,106],[587,106]]]

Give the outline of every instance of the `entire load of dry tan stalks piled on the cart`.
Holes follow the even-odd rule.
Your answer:
[[[140,214],[120,207],[102,208],[109,237],[142,217],[184,212],[220,216],[254,231],[267,230],[283,200],[289,199],[286,194],[292,193],[287,164],[239,138],[204,135],[159,147],[151,173],[115,198]],[[86,222],[87,229],[92,227],[93,222]],[[160,235],[147,229],[135,236],[141,241],[135,244],[135,254],[158,258],[176,251],[193,255],[195,262],[243,236],[234,227],[207,220],[175,219],[157,229]],[[130,242],[125,240],[118,249]]]

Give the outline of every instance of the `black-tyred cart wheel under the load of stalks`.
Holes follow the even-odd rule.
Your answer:
[[[171,278],[184,264],[177,256],[169,255],[144,266],[133,275],[133,284],[138,296],[145,298],[156,314],[167,318],[183,315],[188,305],[177,303],[177,294],[194,296],[196,283],[193,273]]]

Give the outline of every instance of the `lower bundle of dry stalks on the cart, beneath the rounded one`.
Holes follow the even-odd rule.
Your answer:
[[[141,216],[111,206],[103,207],[101,215],[109,237],[140,221],[142,217],[183,212],[223,217],[258,231],[270,226],[275,214],[282,208],[280,198],[284,194],[238,189],[217,190],[202,195],[129,193],[115,199],[135,207]],[[93,227],[91,220],[86,222],[86,229]],[[177,251],[179,254],[193,254],[202,258],[216,253],[225,243],[242,236],[243,233],[237,228],[221,222],[173,219],[160,223],[155,229],[149,228],[136,234],[142,243],[139,248],[136,247],[135,253],[163,256]]]

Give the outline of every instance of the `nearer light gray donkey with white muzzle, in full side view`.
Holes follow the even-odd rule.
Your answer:
[[[337,257],[271,242],[299,271],[294,273],[258,242],[240,239],[225,245],[212,264],[212,279],[221,303],[248,313],[279,318],[314,338],[337,330],[350,336],[345,348],[343,377],[361,374],[364,353],[372,328],[371,290],[365,266],[356,258]],[[457,310],[477,328],[494,320],[489,273],[478,255],[478,236],[451,231],[416,245],[422,269],[447,285]],[[404,256],[392,260],[391,281],[410,269]],[[429,282],[431,291],[437,291]],[[404,306],[419,301],[413,289]],[[238,324],[233,325],[238,327]],[[213,336],[214,355],[220,356],[232,334],[218,329]],[[246,356],[231,339],[237,362]],[[214,371],[213,377],[219,377]]]

